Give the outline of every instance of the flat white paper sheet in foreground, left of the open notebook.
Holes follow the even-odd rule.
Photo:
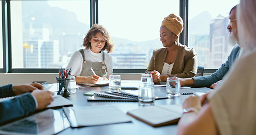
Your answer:
[[[74,106],[78,126],[132,122],[129,116],[114,106]]]

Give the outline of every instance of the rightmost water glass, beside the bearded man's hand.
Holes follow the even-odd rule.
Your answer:
[[[169,98],[173,97],[179,97],[181,90],[181,82],[179,81],[179,78],[172,79],[171,77],[167,78],[166,81],[166,91]]]

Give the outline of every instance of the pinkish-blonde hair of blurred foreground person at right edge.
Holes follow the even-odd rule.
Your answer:
[[[256,47],[256,1],[241,0],[237,7],[239,45],[244,51]]]

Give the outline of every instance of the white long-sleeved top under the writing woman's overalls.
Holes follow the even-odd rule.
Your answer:
[[[89,62],[102,62],[103,56],[101,53],[94,53],[90,49],[84,49],[84,57],[86,61]],[[113,61],[112,57],[105,53],[105,62],[107,67],[107,78],[109,78],[109,75],[113,73]],[[80,73],[82,71],[83,67],[83,56],[79,51],[75,51],[69,61],[68,66],[66,66],[66,69],[71,70],[71,75],[80,76]]]

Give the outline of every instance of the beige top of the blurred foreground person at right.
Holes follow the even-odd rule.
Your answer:
[[[256,134],[255,58],[256,50],[240,56],[208,96],[220,134]]]

